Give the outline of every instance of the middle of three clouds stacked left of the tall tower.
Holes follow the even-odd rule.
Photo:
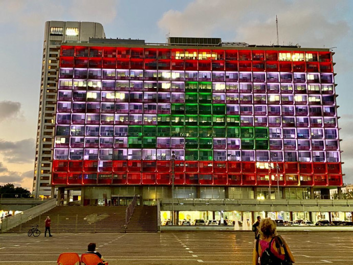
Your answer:
[[[17,142],[0,139],[0,154],[9,163],[31,163],[34,159],[35,140],[25,139]]]

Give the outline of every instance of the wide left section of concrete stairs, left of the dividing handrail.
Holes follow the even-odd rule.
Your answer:
[[[43,233],[47,216],[52,220],[50,230],[53,234],[124,232],[125,210],[125,206],[57,206],[8,232],[28,232],[39,224],[39,230]]]

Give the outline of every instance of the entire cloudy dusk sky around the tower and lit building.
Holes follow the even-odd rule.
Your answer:
[[[98,4],[99,3],[99,4]],[[353,183],[353,1],[0,0],[0,185],[31,189],[44,24],[95,21],[107,38],[165,42],[171,36],[334,48],[345,183]]]

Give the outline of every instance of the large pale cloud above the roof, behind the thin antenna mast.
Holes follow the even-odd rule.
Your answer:
[[[227,32],[234,36],[228,41],[269,45],[276,41],[278,15],[280,43],[323,47],[337,44],[347,34],[349,25],[342,16],[347,3],[341,1],[335,5],[340,8],[333,9],[330,0],[195,0],[182,11],[165,12],[158,26],[170,30],[172,36],[210,37]]]

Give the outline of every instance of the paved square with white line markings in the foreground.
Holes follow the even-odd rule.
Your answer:
[[[296,264],[351,264],[352,232],[282,232]],[[0,264],[56,264],[62,252],[86,251],[90,242],[109,265],[251,264],[252,232],[163,232],[0,235]]]

